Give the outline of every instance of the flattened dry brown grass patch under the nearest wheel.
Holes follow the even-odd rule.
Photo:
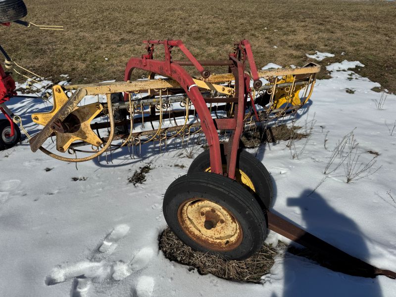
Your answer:
[[[264,274],[269,273],[278,251],[267,245],[251,257],[236,261],[209,255],[185,245],[166,228],[159,238],[159,248],[171,261],[197,268],[199,274],[211,273],[217,277],[250,283],[259,283]]]

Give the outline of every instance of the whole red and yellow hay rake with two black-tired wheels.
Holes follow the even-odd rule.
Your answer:
[[[53,109],[32,115],[44,126],[30,139],[32,151],[82,162],[124,146],[166,144],[203,133],[209,149],[198,155],[188,174],[168,187],[163,200],[166,222],[183,242],[204,252],[243,259],[261,247],[269,228],[350,265],[350,274],[395,278],[395,272],[354,258],[271,212],[271,177],[261,162],[240,149],[246,125],[293,114],[307,102],[320,70],[317,64],[258,71],[247,40],[236,43],[228,59],[207,61],[198,61],[180,40],[144,43],[146,54],[128,61],[123,82],[53,86]],[[158,46],[164,48],[163,60],[153,58]],[[175,48],[187,59],[172,60]],[[200,75],[192,76],[184,68],[188,66]],[[204,66],[227,67],[228,72],[211,74]],[[146,79],[131,81],[135,68],[147,71]],[[79,105],[89,96],[98,100]],[[178,104],[181,108],[175,107]],[[107,129],[104,136],[100,131]],[[220,131],[229,133],[227,142],[220,142]],[[49,137],[55,137],[56,150],[62,154],[43,147]],[[82,146],[91,147],[82,150],[91,154],[64,156]]]

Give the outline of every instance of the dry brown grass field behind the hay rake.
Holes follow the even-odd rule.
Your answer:
[[[394,1],[25,2],[26,20],[65,31],[13,24],[0,28],[1,45],[19,64],[53,81],[60,74],[73,83],[122,80],[127,60],[144,53],[144,39],[181,39],[198,59],[223,59],[234,41],[247,38],[258,66],[301,66],[309,60],[305,53],[327,51],[336,56],[322,65],[359,60],[366,66],[356,72],[396,92]],[[326,76],[323,69],[319,78]]]

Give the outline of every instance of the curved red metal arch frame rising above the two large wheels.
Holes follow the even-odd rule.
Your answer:
[[[235,104],[234,118],[213,119],[206,102],[203,99],[197,85],[194,83],[192,76],[177,62],[172,61],[171,51],[174,47],[178,47],[183,51],[200,72],[202,77],[209,77],[209,71],[205,70],[192,53],[184,46],[181,40],[149,40],[144,41],[147,44],[148,53],[142,55],[141,58],[131,58],[125,68],[124,80],[128,81],[134,68],[147,70],[152,73],[167,76],[177,81],[184,89],[187,96],[191,99],[201,121],[202,131],[205,134],[209,146],[210,167],[211,172],[226,175],[231,179],[235,179],[235,168],[239,149],[240,137],[243,131],[243,122],[245,116],[245,108],[247,96],[251,92],[249,88],[250,77],[245,73],[245,60],[249,61],[251,73],[254,80],[254,87],[261,86],[258,79],[257,68],[254,63],[253,54],[250,44],[247,40],[236,44],[234,53],[230,53],[229,58],[232,61],[230,70],[235,77],[236,93],[238,94],[238,103]],[[165,60],[153,59],[154,45],[163,45],[165,49]],[[128,95],[124,95],[124,99],[128,99]],[[256,110],[254,108],[256,113]],[[231,138],[228,144],[225,144],[224,153],[227,155],[227,172],[223,172],[221,162],[220,141],[217,130],[232,130]]]

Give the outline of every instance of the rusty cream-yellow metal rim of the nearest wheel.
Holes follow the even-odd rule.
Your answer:
[[[177,219],[191,239],[208,249],[228,251],[242,243],[239,222],[229,210],[210,200],[191,198],[184,201]]]

